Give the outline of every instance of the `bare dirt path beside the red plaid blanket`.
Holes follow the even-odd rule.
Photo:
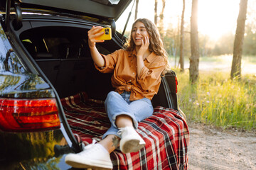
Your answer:
[[[256,170],[256,132],[222,130],[191,122],[188,128],[190,170]]]

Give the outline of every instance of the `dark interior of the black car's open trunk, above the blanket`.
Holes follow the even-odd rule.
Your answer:
[[[95,69],[87,45],[87,30],[91,27],[49,24],[52,23],[23,22],[24,31],[18,31],[18,37],[60,98],[86,91],[90,98],[105,100],[107,93],[114,90],[110,81],[112,74],[102,74]],[[112,40],[97,43],[99,52],[107,55],[121,48],[122,40],[118,35],[116,32]],[[176,85],[175,73],[166,74],[159,93],[152,100],[153,105],[178,111]]]

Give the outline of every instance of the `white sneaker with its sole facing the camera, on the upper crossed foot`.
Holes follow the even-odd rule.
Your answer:
[[[118,133],[122,137],[119,147],[124,154],[138,152],[145,146],[145,141],[132,127],[127,126],[125,128],[119,128]]]

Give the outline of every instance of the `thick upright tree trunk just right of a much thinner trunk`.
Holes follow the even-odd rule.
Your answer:
[[[191,11],[191,57],[189,59],[189,79],[194,83],[198,79],[199,71],[198,45],[198,0],[192,0]]]

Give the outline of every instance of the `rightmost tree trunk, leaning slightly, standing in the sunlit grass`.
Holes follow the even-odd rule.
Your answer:
[[[245,34],[245,20],[247,12],[247,0],[240,0],[237,28],[235,31],[235,42],[233,49],[233,62],[231,67],[231,79],[241,77],[242,44]]]

